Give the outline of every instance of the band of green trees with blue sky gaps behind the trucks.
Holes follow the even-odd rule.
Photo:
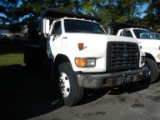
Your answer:
[[[5,0],[6,1],[6,0]],[[15,0],[8,0],[15,1]],[[143,21],[141,16],[142,6],[150,0],[21,0],[22,5],[18,8],[10,9],[9,13],[12,14],[12,22],[20,22],[23,19],[23,24],[28,26],[37,27],[40,20],[40,12],[44,8],[56,8],[63,11],[74,12],[77,14],[89,15],[101,18],[101,24],[109,25],[112,22],[125,22],[132,20],[141,22],[142,24],[151,24],[150,19],[156,13],[156,21],[159,20],[159,1],[154,3],[155,7],[151,7],[148,11],[146,21]],[[152,0],[155,1],[155,0]],[[16,4],[15,4],[16,5]],[[5,11],[4,6],[0,6],[0,10]],[[154,13],[154,14],[153,14]],[[154,15],[155,16],[155,15]],[[154,20],[155,21],[155,20]]]

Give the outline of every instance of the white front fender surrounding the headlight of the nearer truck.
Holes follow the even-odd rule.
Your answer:
[[[106,70],[106,54],[97,51],[83,51],[83,50],[72,50],[72,49],[61,49],[58,54],[63,54],[68,57],[71,62],[74,71],[81,72],[104,72]],[[57,54],[57,55],[58,55]],[[96,58],[95,67],[77,67],[75,64],[75,58]]]

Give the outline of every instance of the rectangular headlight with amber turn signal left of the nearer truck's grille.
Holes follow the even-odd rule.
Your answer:
[[[95,58],[75,58],[77,67],[94,67],[96,66]]]

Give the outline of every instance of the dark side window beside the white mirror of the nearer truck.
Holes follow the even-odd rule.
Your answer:
[[[57,35],[62,34],[61,22],[60,21],[55,23],[54,28],[52,30],[52,34],[57,34]]]

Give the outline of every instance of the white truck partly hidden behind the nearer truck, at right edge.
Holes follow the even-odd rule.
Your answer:
[[[150,82],[156,82],[159,78],[160,67],[160,41],[154,39],[151,32],[142,28],[123,28],[119,29],[117,36],[135,38],[146,53],[146,63],[150,68]]]

